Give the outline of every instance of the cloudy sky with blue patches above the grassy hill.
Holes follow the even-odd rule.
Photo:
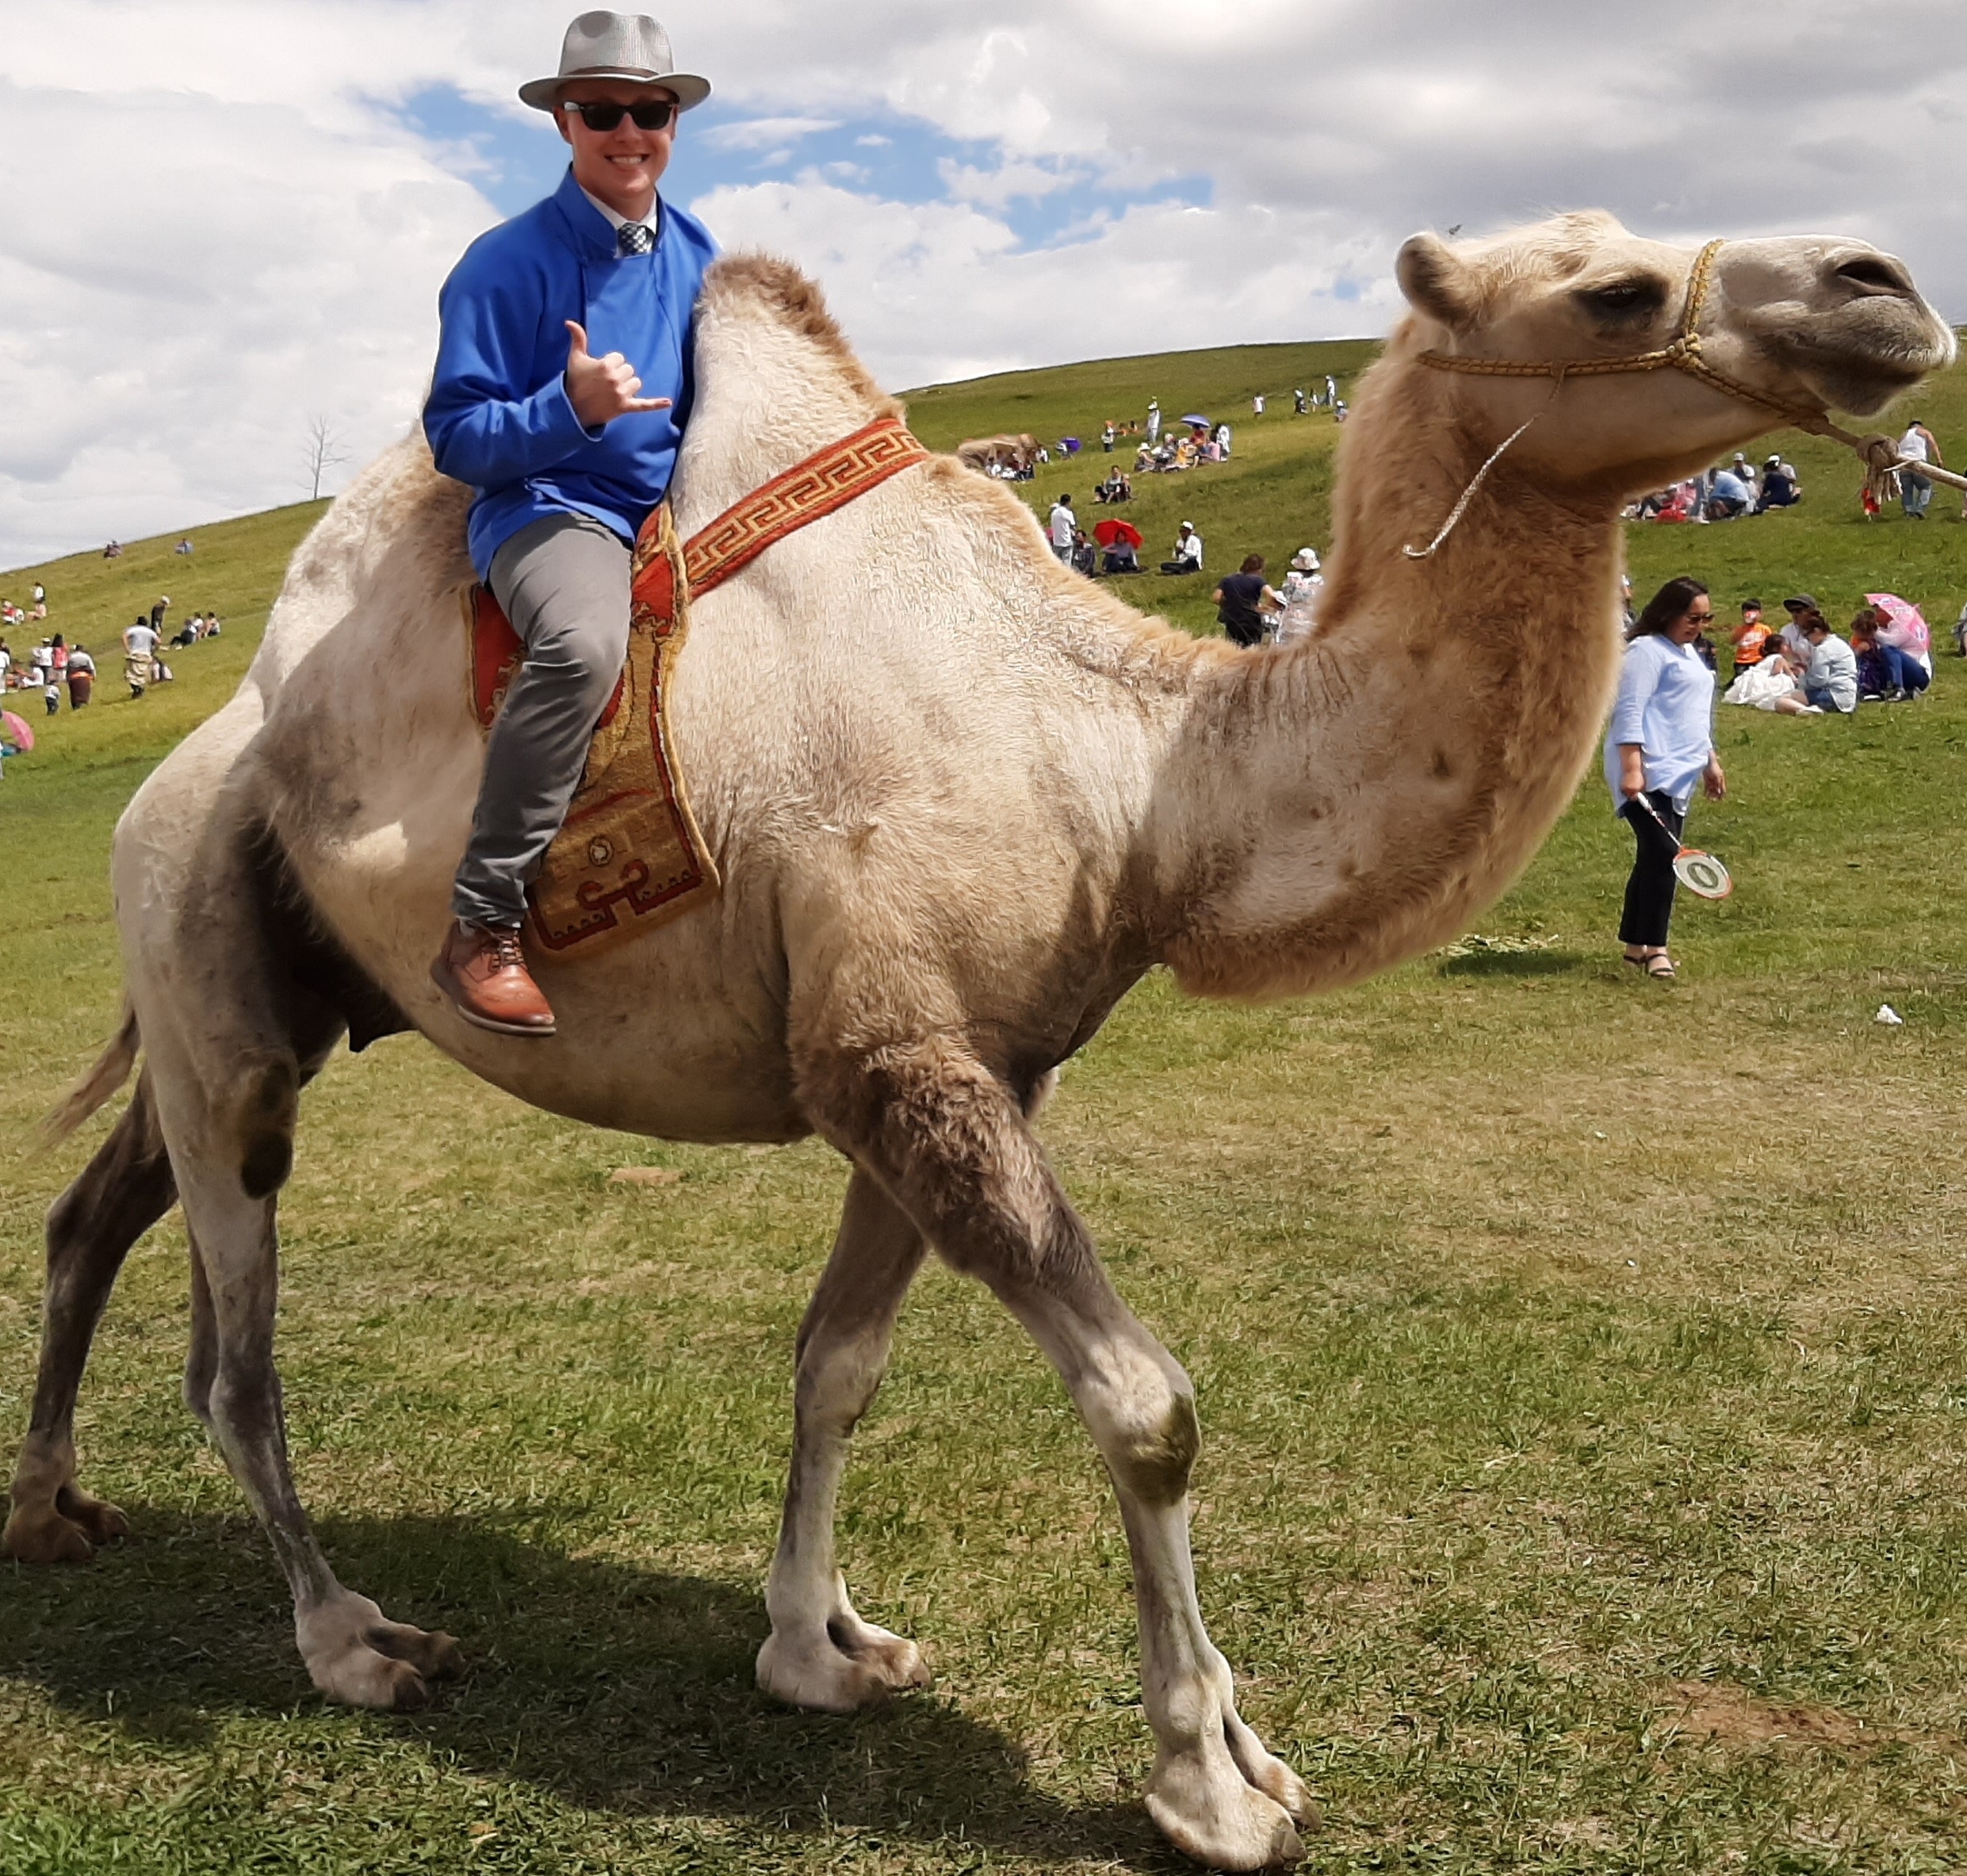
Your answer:
[[[0,0],[0,566],[307,494],[413,421],[464,244],[559,179],[539,0]],[[1835,230],[1967,319],[1967,6],[665,0],[665,193],[893,387],[1381,332],[1416,228]]]

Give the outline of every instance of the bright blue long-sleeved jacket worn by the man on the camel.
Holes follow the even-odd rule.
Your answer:
[[[572,509],[633,541],[669,492],[690,415],[692,313],[716,244],[694,216],[663,203],[651,254],[618,256],[616,232],[568,167],[561,187],[525,214],[480,234],[450,269],[437,309],[437,374],[423,433],[437,466],[476,490],[472,566],[541,515]],[[622,352],[643,397],[669,411],[635,411],[590,431],[566,401],[565,321],[588,330],[588,350]]]

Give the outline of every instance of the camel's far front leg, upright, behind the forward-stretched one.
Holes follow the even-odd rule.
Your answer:
[[[895,1318],[924,1253],[907,1213],[856,1168],[832,1257],[799,1327],[793,1469],[765,1587],[771,1634],[757,1654],[759,1687],[795,1707],[852,1713],[897,1687],[928,1683],[915,1642],[864,1622],[834,1563],[848,1439],[881,1386]]]

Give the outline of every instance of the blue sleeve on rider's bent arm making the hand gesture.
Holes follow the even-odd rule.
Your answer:
[[[439,295],[437,372],[423,433],[437,468],[472,488],[506,488],[565,462],[602,433],[566,399],[565,374],[531,383],[545,277],[525,264],[496,265],[466,252]]]

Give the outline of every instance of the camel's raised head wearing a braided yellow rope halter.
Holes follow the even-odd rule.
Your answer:
[[[1399,281],[1414,311],[1389,360],[1446,368],[1416,376],[1454,385],[1456,413],[1491,442],[1536,417],[1513,452],[1519,472],[1613,499],[1786,419],[1877,411],[1955,352],[1904,264],[1845,236],[1696,250],[1640,240],[1609,214],[1564,214],[1458,248],[1416,234]],[[1552,397],[1552,366],[1621,360],[1635,368],[1574,370]]]

